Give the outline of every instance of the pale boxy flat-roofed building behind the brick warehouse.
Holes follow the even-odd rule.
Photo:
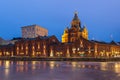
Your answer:
[[[22,27],[22,38],[35,38],[38,36],[47,36],[48,30],[38,25]]]

